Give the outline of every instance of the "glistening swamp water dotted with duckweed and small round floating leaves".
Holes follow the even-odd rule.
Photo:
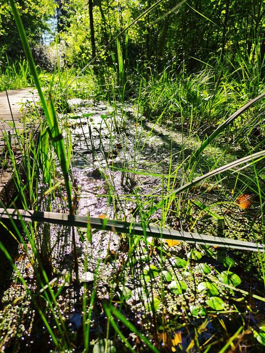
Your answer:
[[[183,155],[188,155],[198,143],[137,117],[129,106],[112,109],[104,103],[95,107],[80,105],[79,101],[70,101],[70,105],[74,113],[67,116],[67,124],[73,147],[71,173],[77,189],[77,214],[128,221],[134,218],[139,222],[150,207],[150,200],[155,202],[168,191],[169,168],[174,170]],[[210,160],[210,154],[206,158]],[[174,190],[174,185],[170,188]],[[211,197],[216,200],[216,195]],[[161,211],[157,211],[149,221],[156,224],[160,218]],[[174,215],[171,218],[170,226],[178,227]],[[214,234],[214,220],[208,218],[208,224],[209,232]],[[89,333],[95,343],[106,338],[109,328],[102,303],[109,301],[159,352],[204,352],[208,344],[212,344],[210,352],[219,352],[236,332],[242,352],[250,352],[244,351],[247,346],[253,347],[253,352],[263,352],[254,335],[259,334],[259,326],[265,320],[264,303],[245,297],[236,288],[239,284],[247,291],[261,288],[249,281],[249,274],[244,272],[246,254],[185,244],[172,246],[150,238],[128,239],[106,231],[92,230],[90,241],[85,229],[76,229],[80,280],[77,287],[72,282],[72,230],[54,226],[50,230],[58,278],[54,281],[54,291],[59,292],[57,310],[68,327],[73,352],[83,351],[85,334]],[[19,266],[24,267],[21,271],[34,287],[27,259],[20,260]],[[227,271],[235,275],[228,281]],[[47,329],[36,319],[26,291],[14,277],[15,287],[12,285],[13,290],[9,288],[2,296],[0,329],[2,347],[7,347],[3,352],[12,352],[14,344],[21,352],[49,352],[49,347],[51,352],[57,352]],[[94,294],[89,328],[85,331],[83,312],[89,312]],[[55,323],[50,309],[47,313],[48,320]],[[126,325],[119,323],[119,329],[136,352],[148,351]],[[114,330],[110,328],[108,332],[113,342],[111,352],[127,352]]]

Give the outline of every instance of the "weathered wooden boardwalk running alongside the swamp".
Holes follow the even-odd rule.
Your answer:
[[[8,96],[8,98],[7,98]],[[8,205],[14,196],[13,172],[4,168],[6,144],[4,135],[12,136],[17,130],[24,129],[23,117],[34,102],[38,101],[37,91],[33,88],[9,90],[0,93],[0,201]]]

